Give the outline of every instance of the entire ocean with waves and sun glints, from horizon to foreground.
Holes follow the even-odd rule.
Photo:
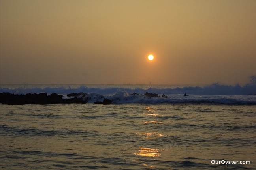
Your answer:
[[[5,84],[2,92],[83,92],[88,100],[0,104],[3,170],[256,169],[255,84]],[[94,104],[103,98],[112,103]]]

